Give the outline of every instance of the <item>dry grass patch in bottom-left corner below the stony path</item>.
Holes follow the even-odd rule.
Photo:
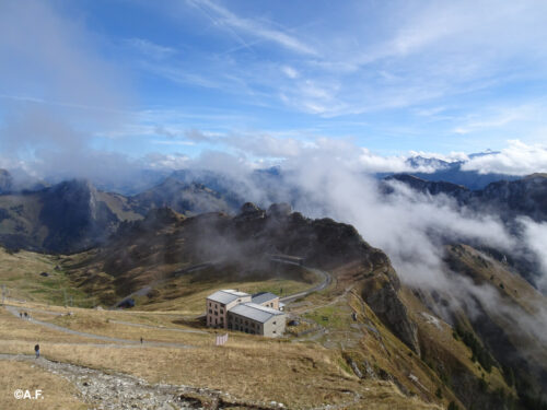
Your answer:
[[[42,390],[44,399],[15,399],[14,390]],[[79,410],[86,409],[77,396],[77,389],[60,376],[38,366],[10,360],[0,361],[0,408],[9,410]]]

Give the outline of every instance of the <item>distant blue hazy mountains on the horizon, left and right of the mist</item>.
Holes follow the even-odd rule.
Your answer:
[[[132,196],[102,191],[86,180],[12,191],[10,174],[3,171],[0,176],[3,187],[3,194],[0,194],[0,243],[10,248],[53,253],[72,253],[96,246],[113,234],[120,222],[142,219],[156,208],[168,207],[185,215],[211,211],[233,213],[258,189],[260,204],[279,200],[295,203],[301,196],[296,187],[288,185],[288,178],[279,168],[255,171],[243,181],[213,172],[181,171]],[[498,214],[504,221],[516,215],[537,222],[547,219],[547,178],[542,174],[499,180],[480,190],[450,181],[395,174],[380,181],[384,194],[393,191],[389,185],[393,181],[433,196],[447,195],[462,206]]]

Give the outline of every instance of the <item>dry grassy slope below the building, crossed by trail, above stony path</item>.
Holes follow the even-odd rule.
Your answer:
[[[73,316],[50,320],[95,333],[131,339],[142,336],[144,340],[177,341],[191,343],[196,348],[152,348],[146,344],[135,349],[97,348],[93,345],[96,342],[94,340],[91,341],[93,344],[82,343],[77,337],[72,339],[66,333],[50,330],[45,340],[40,339],[43,355],[46,358],[129,373],[151,383],[210,387],[240,398],[277,400],[291,409],[347,402],[352,397],[348,391],[359,393],[363,397],[360,403],[348,406],[348,409],[362,408],[363,403],[371,409],[434,408],[418,398],[403,396],[392,383],[358,379],[336,349],[325,349],[315,343],[288,343],[237,332],[231,333],[226,345],[218,348],[213,345],[212,331],[208,335],[158,331],[116,325],[112,320],[155,323],[184,329],[184,326],[173,323],[176,320],[173,320],[172,315],[79,308],[72,311]],[[47,319],[45,316],[42,318]],[[14,318],[0,308],[0,326],[2,323],[10,329],[14,323],[21,323],[22,326],[18,332],[0,332],[0,352],[28,353],[33,347],[28,339],[37,340],[42,337],[42,327]],[[77,344],[67,344],[75,340]]]

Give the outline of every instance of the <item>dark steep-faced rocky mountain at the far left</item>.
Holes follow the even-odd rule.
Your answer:
[[[139,218],[126,198],[72,180],[0,196],[0,243],[15,249],[71,253],[103,242],[121,220]]]

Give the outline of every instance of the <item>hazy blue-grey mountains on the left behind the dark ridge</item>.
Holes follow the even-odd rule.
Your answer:
[[[231,210],[219,194],[199,184],[166,179],[132,197],[104,192],[85,180],[0,195],[0,245],[57,254],[103,244],[121,222],[171,207],[185,214]]]

